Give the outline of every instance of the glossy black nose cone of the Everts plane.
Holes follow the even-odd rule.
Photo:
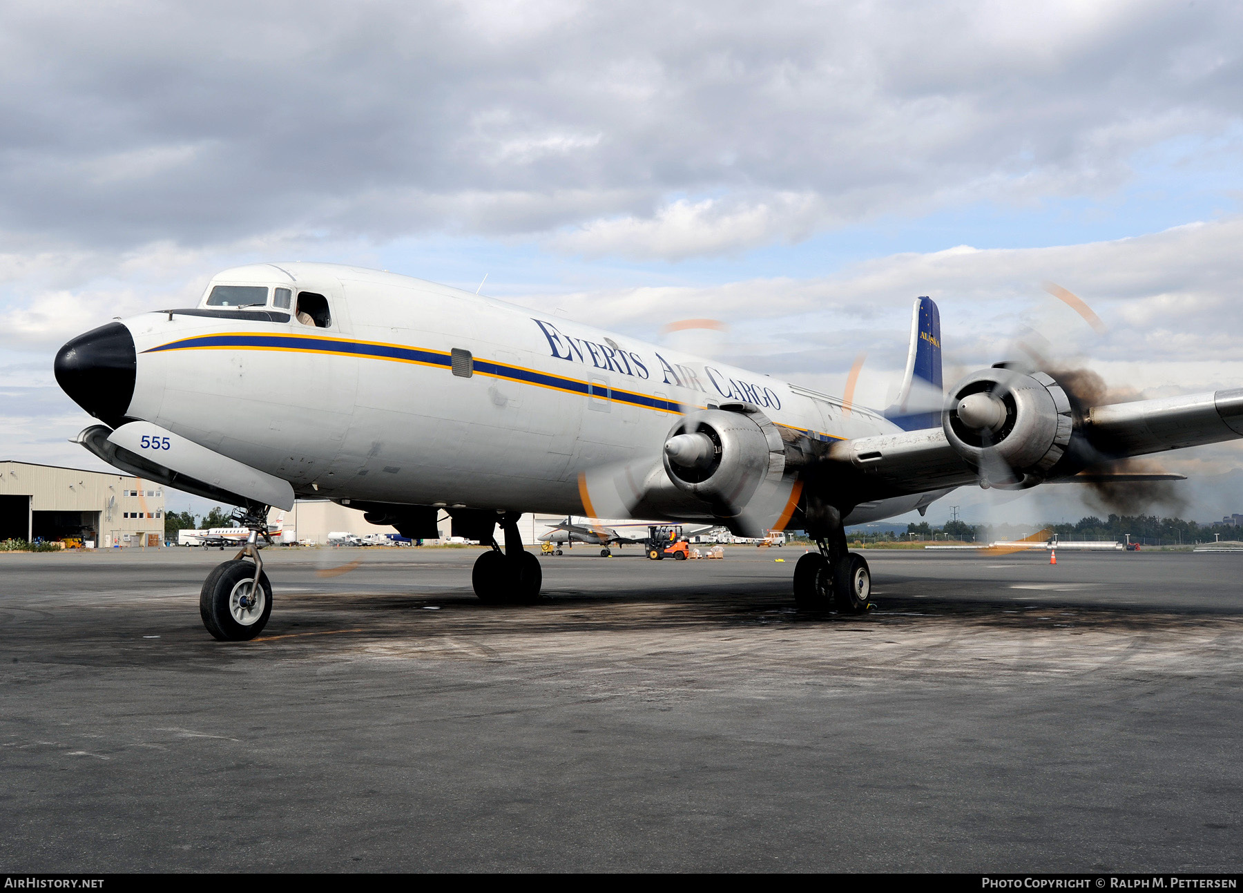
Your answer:
[[[61,391],[113,428],[126,423],[137,368],[134,340],[119,322],[92,328],[56,353],[56,382]]]

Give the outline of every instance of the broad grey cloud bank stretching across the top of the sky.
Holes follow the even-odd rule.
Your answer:
[[[17,0],[0,10],[0,229],[109,250],[449,230],[679,259],[1099,197],[1136,152],[1237,139],[1241,16]]]

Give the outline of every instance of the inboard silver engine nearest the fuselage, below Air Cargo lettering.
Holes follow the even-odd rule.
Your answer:
[[[779,480],[786,451],[777,427],[746,403],[689,413],[669,432],[665,471],[681,490],[733,517],[761,483]]]

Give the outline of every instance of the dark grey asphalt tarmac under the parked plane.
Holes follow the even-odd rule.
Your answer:
[[[1243,555],[799,553],[0,553],[0,871],[1243,868]]]

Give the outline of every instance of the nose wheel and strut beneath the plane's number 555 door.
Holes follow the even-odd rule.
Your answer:
[[[267,535],[267,506],[250,505],[235,515],[250,537],[232,561],[218,565],[203,583],[199,614],[203,626],[221,642],[245,642],[264,632],[272,616],[272,585],[264,573],[259,550],[271,542]],[[244,561],[250,558],[250,561]]]

